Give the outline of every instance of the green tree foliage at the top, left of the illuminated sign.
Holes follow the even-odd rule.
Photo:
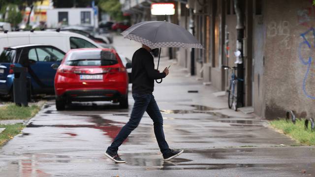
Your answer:
[[[98,7],[108,13],[114,20],[123,21],[128,19],[123,16],[122,5],[119,0],[99,0]]]

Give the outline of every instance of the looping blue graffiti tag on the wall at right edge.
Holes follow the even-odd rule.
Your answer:
[[[315,76],[314,70],[314,57],[312,51],[315,50],[315,29],[310,28],[309,30],[301,34],[303,41],[299,44],[298,56],[303,65],[307,66],[305,71],[305,76],[303,79],[303,92],[304,94],[311,99],[315,99],[315,92],[311,91],[308,88],[312,89],[312,83],[314,82],[311,77]],[[313,64],[313,65],[312,65]],[[312,68],[313,66],[313,68]],[[310,79],[311,78],[311,79]]]

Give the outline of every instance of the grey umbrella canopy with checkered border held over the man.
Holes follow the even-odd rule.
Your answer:
[[[150,48],[183,47],[203,49],[198,40],[185,28],[165,21],[140,22],[121,33]]]

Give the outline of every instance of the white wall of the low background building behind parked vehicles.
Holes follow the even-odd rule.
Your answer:
[[[56,28],[58,24],[58,12],[68,12],[68,25],[81,25],[81,12],[91,12],[91,26],[98,26],[97,17],[94,18],[93,8],[55,8],[47,10],[47,27]]]

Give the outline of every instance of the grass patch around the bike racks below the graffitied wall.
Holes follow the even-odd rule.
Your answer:
[[[312,132],[310,127],[308,130],[305,130],[303,120],[296,120],[296,123],[293,124],[292,122],[286,122],[284,119],[281,119],[273,120],[270,124],[299,143],[309,146],[315,145],[315,132]]]

